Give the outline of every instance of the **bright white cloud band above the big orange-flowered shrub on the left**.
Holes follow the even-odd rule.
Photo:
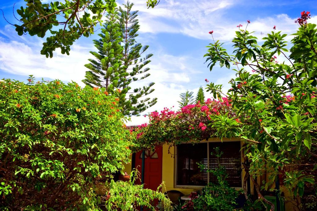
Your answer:
[[[6,42],[0,39],[0,69],[12,74],[34,75],[37,78],[46,77],[62,81],[75,81],[79,84],[85,76],[83,65],[88,63],[90,49],[72,46],[69,56],[55,53],[54,57],[47,59],[39,53],[39,48],[32,48],[22,42]]]

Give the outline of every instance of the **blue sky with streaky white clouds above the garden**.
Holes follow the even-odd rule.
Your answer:
[[[47,0],[45,0],[47,2]],[[204,54],[212,41],[209,31],[213,30],[215,40],[224,43],[231,54],[231,40],[236,26],[246,26],[248,31],[262,39],[261,33],[268,34],[276,26],[283,34],[293,34],[298,25],[294,21],[301,11],[310,11],[308,22],[317,24],[316,0],[161,0],[154,9],[147,9],[146,0],[131,0],[133,10],[139,10],[139,36],[137,42],[149,45],[146,53],[152,53],[147,65],[151,76],[134,84],[143,86],[154,82],[155,89],[149,97],[157,97],[158,102],[144,114],[164,107],[178,108],[179,94],[186,90],[196,96],[200,86],[206,87],[205,79],[215,84],[223,84],[228,90],[229,80],[235,78],[235,72],[216,65],[209,71]],[[13,5],[15,3],[15,8]],[[117,0],[118,6],[125,1]],[[0,1],[4,17],[16,24],[13,11],[24,5],[24,0]],[[17,13],[15,15],[18,17]],[[0,17],[0,79],[11,78],[26,82],[28,75],[36,79],[60,79],[67,83],[75,81],[81,86],[87,68],[88,59],[93,58],[89,51],[95,51],[92,40],[99,39],[95,32],[91,37],[81,37],[71,46],[70,55],[57,50],[53,58],[40,54],[42,38],[17,35],[14,26]],[[291,40],[287,36],[286,40]],[[261,42],[260,42],[261,44]],[[290,46],[288,46],[290,48]],[[282,61],[282,58],[281,58]],[[205,92],[205,98],[211,94]]]

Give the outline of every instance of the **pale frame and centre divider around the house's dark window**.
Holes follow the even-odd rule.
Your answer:
[[[228,140],[223,140],[221,141],[220,139],[208,139],[207,141],[204,140],[204,141],[200,141],[198,142],[197,144],[199,143],[207,143],[207,165],[209,167],[209,155],[210,155],[210,152],[209,152],[209,143],[213,143],[213,142],[237,142],[239,141],[240,142],[240,149],[242,147],[242,141],[241,140],[237,140],[237,139],[228,139]],[[189,144],[189,143],[192,143],[192,142],[185,142],[184,144]],[[176,181],[177,181],[177,146],[174,146],[174,188],[204,188],[205,186],[201,186],[201,185],[178,185],[176,184]],[[242,165],[242,159],[243,159],[243,154],[242,154],[242,151],[240,151],[240,162],[241,162],[241,168],[243,168],[243,165]],[[207,174],[207,185],[209,184],[209,174]],[[231,188],[234,188],[234,189],[237,189],[237,190],[240,190],[243,188],[243,174],[242,174],[242,171],[241,171],[241,187],[231,187]]]

